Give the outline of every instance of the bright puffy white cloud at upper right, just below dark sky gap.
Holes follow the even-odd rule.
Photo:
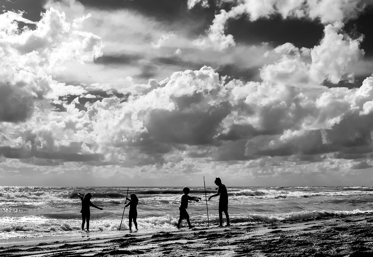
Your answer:
[[[325,80],[333,84],[353,80],[348,67],[363,57],[364,51],[360,49],[363,38],[353,40],[343,35],[342,27],[342,23],[327,25],[320,44],[312,49],[299,49],[290,43],[278,46],[273,52],[281,55],[281,59],[264,66],[261,78],[294,87],[319,87]]]

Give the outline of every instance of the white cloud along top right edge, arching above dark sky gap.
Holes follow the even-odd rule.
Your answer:
[[[200,1],[189,1],[188,7],[192,8]],[[365,0],[219,0],[217,5],[229,3],[232,8],[226,12],[220,10],[215,15],[213,23],[206,31],[207,35],[200,36],[195,44],[201,47],[213,46],[217,49],[225,49],[235,45],[232,35],[226,35],[225,29],[228,19],[239,19],[248,16],[250,21],[256,21],[260,18],[269,19],[273,15],[281,15],[283,18],[307,18],[319,19],[323,24],[335,22],[345,22],[349,19],[358,17],[367,5],[373,4],[372,1]],[[202,5],[203,6],[203,5]]]

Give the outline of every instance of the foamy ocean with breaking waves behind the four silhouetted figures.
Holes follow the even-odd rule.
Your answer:
[[[373,212],[373,187],[229,187],[229,218],[232,225],[270,223],[314,217]],[[189,187],[188,213],[196,226],[219,224],[219,197],[207,201],[203,187]],[[215,188],[206,188],[207,198]],[[118,230],[127,193],[126,187],[0,187],[0,239],[74,236],[82,233],[78,192],[91,192],[90,231],[100,235]],[[138,228],[175,229],[179,219],[182,187],[134,187],[128,196],[139,198]],[[128,207],[121,230],[128,227]],[[223,214],[224,222],[225,216]],[[182,227],[186,227],[186,221]],[[132,225],[132,228],[134,226]]]

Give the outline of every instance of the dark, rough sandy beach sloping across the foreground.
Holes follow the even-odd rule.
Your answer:
[[[13,256],[373,256],[373,215],[9,242]],[[121,232],[119,232],[121,233]],[[124,234],[126,233],[126,234]],[[87,234],[88,235],[88,234]]]

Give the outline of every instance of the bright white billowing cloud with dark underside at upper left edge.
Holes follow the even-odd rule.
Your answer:
[[[66,60],[91,62],[102,54],[99,37],[72,29],[64,13],[51,8],[37,23],[36,29],[18,29],[18,22],[34,23],[22,13],[0,15],[0,121],[28,119],[38,100],[66,94],[85,93],[81,87],[57,83],[48,74],[63,69]],[[79,91],[79,92],[78,92]]]

